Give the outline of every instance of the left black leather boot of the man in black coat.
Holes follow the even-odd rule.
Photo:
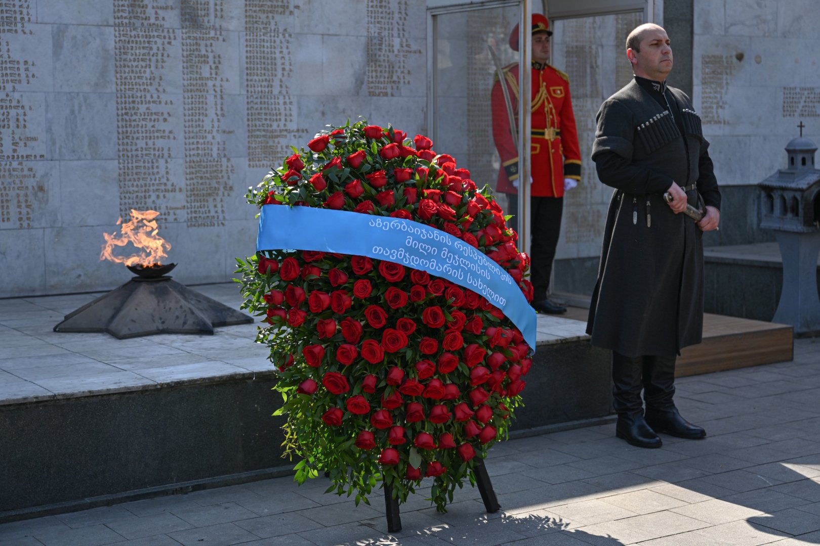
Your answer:
[[[640,402],[642,357],[629,358],[613,351],[613,407],[615,435],[639,448],[659,448],[661,439],[646,424]]]

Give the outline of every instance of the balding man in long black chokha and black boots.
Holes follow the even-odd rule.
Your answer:
[[[617,437],[659,448],[658,432],[706,435],[681,417],[672,397],[676,355],[703,333],[701,237],[717,229],[721,194],[700,117],[686,93],[667,86],[666,31],[640,25],[626,38],[626,56],[635,78],[596,117],[592,159],[615,192],[586,331],[593,345],[613,350]],[[703,219],[681,214],[687,204]]]

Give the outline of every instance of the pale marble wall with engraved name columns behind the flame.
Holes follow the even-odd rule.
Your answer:
[[[177,280],[230,279],[247,187],[327,123],[424,133],[425,62],[420,0],[0,2],[0,297],[128,280],[131,209]]]

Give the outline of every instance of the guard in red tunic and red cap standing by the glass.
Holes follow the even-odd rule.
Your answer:
[[[540,13],[532,16],[532,118],[531,118],[531,282],[532,306],[542,313],[558,314],[566,308],[547,298],[549,275],[561,232],[564,192],[581,180],[581,151],[567,74],[547,64],[549,61],[549,20]],[[510,47],[518,51],[518,25],[510,34]],[[508,114],[502,83],[496,74],[492,92],[493,137],[501,158],[496,191],[508,196],[508,214],[518,210],[518,150],[512,133],[518,132],[518,63],[503,68],[503,85],[512,103],[513,120]],[[517,229],[513,216],[508,223]]]

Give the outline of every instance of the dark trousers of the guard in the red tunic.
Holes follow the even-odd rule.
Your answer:
[[[507,194],[507,214],[512,214],[507,225],[518,231],[518,194]],[[532,282],[532,300],[544,300],[549,291],[549,275],[553,271],[555,247],[561,235],[561,214],[563,197],[531,197],[530,217],[530,282]]]

